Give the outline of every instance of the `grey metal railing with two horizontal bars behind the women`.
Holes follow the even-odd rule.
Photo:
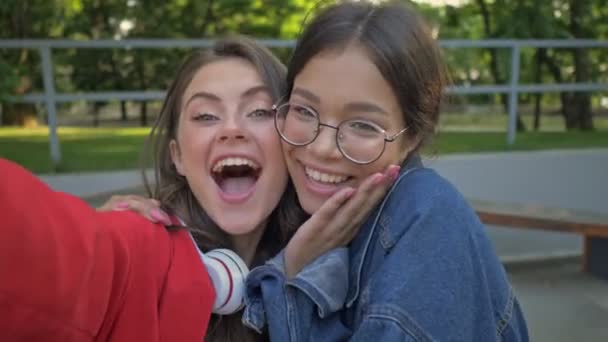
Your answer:
[[[260,43],[271,48],[293,48],[294,40],[261,39]],[[57,109],[56,104],[61,102],[132,100],[148,101],[162,100],[164,92],[159,91],[109,91],[57,94],[53,72],[52,49],[112,49],[112,48],[203,48],[209,47],[212,40],[206,39],[129,39],[129,40],[0,40],[0,48],[5,49],[37,49],[42,61],[42,77],[44,92],[41,94],[26,94],[20,97],[11,97],[10,101],[22,103],[45,103],[48,115],[49,139],[51,160],[55,165],[61,161],[61,150],[57,137]],[[443,48],[495,48],[511,50],[511,67],[509,82],[507,84],[451,86],[447,92],[451,94],[508,94],[509,121],[507,127],[507,142],[513,144],[516,136],[517,105],[519,93],[548,93],[561,91],[595,92],[608,90],[608,83],[554,83],[554,84],[520,84],[520,57],[521,48],[608,48],[608,41],[591,39],[565,39],[565,40],[442,40]]]

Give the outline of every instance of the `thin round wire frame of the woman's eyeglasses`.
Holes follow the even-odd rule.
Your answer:
[[[281,130],[279,129],[278,120],[277,120],[277,117],[278,117],[278,114],[279,114],[279,109],[281,107],[284,107],[284,106],[294,106],[294,105],[295,106],[303,107],[303,108],[305,108],[307,110],[310,110],[311,112],[315,113],[316,116],[317,116],[317,128],[315,129],[315,136],[312,139],[310,139],[310,141],[308,141],[308,142],[306,142],[304,144],[297,144],[297,143],[294,143],[293,141],[290,141],[289,139],[287,139],[283,135],[283,133],[281,133]],[[285,141],[286,143],[288,143],[288,144],[290,144],[292,146],[296,146],[296,147],[307,146],[307,145],[312,144],[317,139],[317,137],[319,137],[319,134],[321,132],[321,129],[320,129],[321,127],[333,128],[333,129],[336,130],[336,135],[335,136],[336,136],[336,146],[338,147],[338,150],[340,151],[340,153],[342,154],[342,156],[344,156],[344,158],[350,160],[351,162],[353,162],[353,163],[355,163],[357,165],[368,165],[368,164],[371,164],[371,163],[375,162],[376,160],[380,159],[380,157],[382,157],[382,155],[384,154],[384,151],[386,150],[386,143],[387,142],[389,142],[389,143],[394,142],[395,139],[397,139],[401,134],[403,134],[409,128],[409,127],[405,127],[402,130],[400,130],[399,132],[397,132],[397,133],[389,136],[389,135],[387,135],[386,130],[384,128],[378,126],[375,123],[372,123],[375,126],[378,126],[378,128],[381,130],[382,134],[384,134],[384,139],[383,139],[384,143],[382,144],[382,151],[380,151],[380,153],[378,153],[378,156],[375,157],[374,159],[372,159],[370,161],[366,161],[366,162],[361,162],[361,161],[353,159],[348,154],[346,154],[344,152],[344,150],[342,150],[342,147],[341,147],[340,142],[339,142],[339,137],[338,137],[338,133],[340,132],[340,127],[344,123],[351,122],[351,121],[356,121],[356,120],[353,120],[353,119],[344,120],[344,121],[340,122],[338,124],[338,126],[333,126],[333,125],[330,125],[330,124],[322,123],[321,122],[321,115],[319,114],[319,112],[317,112],[312,107],[309,107],[309,106],[306,106],[306,105],[301,105],[301,104],[293,104],[293,103],[290,103],[290,102],[282,102],[282,103],[274,104],[274,105],[272,105],[271,111],[274,112],[274,128],[277,130],[277,133],[279,133],[279,136],[281,137],[281,139],[283,141]]]

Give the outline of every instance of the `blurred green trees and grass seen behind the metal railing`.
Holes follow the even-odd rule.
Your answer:
[[[275,46],[272,50],[287,61],[301,24],[307,14],[314,15],[318,3],[318,0],[3,0],[0,39],[67,39],[82,43],[139,38],[213,39],[239,32],[268,40],[270,46]],[[608,145],[608,48],[597,47],[598,40],[606,44],[604,39],[608,35],[607,0],[412,3],[446,47],[452,81],[460,89],[452,93],[444,106],[442,134],[431,152]],[[592,40],[596,46],[552,47],[530,41],[574,38]],[[498,47],[470,46],[471,42],[496,39],[503,42]],[[523,43],[517,47],[515,80],[513,48],[509,44],[513,39],[528,40],[519,41]],[[50,44],[56,94],[120,91],[153,94],[143,100],[80,97],[58,102],[56,117],[62,158],[54,164],[45,145],[48,108],[44,99],[30,97],[28,103],[19,102],[28,95],[44,94],[41,45],[11,48],[0,45],[0,155],[35,172],[136,167],[133,153],[139,150],[147,127],[159,111],[162,92],[192,47],[163,47],[162,42],[153,48],[127,43],[99,48],[53,45],[52,41]],[[505,87],[511,82],[596,86],[589,88],[591,91],[519,89],[515,110],[517,139],[507,144],[504,133],[509,122],[509,93]],[[499,89],[501,93],[470,93],[478,86],[496,85],[503,87]],[[464,93],[462,89],[467,87],[469,93]],[[16,142],[18,149],[12,146]]]

